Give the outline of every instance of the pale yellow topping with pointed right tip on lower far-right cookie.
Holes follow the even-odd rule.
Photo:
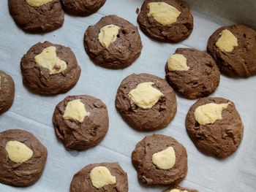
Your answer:
[[[194,112],[195,120],[200,123],[200,125],[207,125],[214,123],[216,120],[222,120],[222,110],[227,108],[227,104],[203,104]]]

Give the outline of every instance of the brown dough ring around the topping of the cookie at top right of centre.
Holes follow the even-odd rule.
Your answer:
[[[149,14],[149,3],[164,2],[178,9],[180,15],[175,23],[163,25],[155,20]],[[189,37],[193,30],[193,16],[189,6],[180,0],[146,0],[144,1],[140,14],[138,15],[138,23],[141,30],[153,39],[161,42],[181,42]]]

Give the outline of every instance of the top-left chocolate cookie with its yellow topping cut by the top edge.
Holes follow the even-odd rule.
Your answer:
[[[64,23],[60,0],[9,0],[12,18],[20,28],[32,33],[53,31]]]

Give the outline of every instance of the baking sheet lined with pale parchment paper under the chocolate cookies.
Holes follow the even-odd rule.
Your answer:
[[[135,10],[142,0],[107,0],[99,12],[86,18],[65,15],[62,28],[48,34],[26,34],[10,17],[7,0],[0,1],[0,69],[15,80],[15,101],[12,108],[0,116],[0,130],[20,128],[31,131],[48,148],[48,160],[40,180],[28,188],[14,188],[0,184],[0,191],[60,191],[68,192],[73,174],[83,166],[102,161],[118,161],[128,173],[129,191],[162,191],[141,185],[131,164],[130,155],[135,145],[146,135],[166,134],[178,139],[188,152],[189,171],[182,185],[203,192],[255,191],[256,188],[256,76],[249,79],[230,79],[221,76],[217,91],[212,96],[222,96],[235,102],[244,122],[244,139],[238,151],[219,161],[200,153],[187,136],[184,120],[195,100],[177,96],[178,112],[167,128],[142,133],[127,126],[116,111],[114,99],[121,80],[132,73],[146,72],[165,77],[167,58],[177,47],[194,47],[205,50],[208,37],[221,25],[246,23],[255,26],[256,1],[187,0],[192,7],[195,28],[192,35],[180,44],[159,43],[148,39],[141,31],[143,50],[132,66],[123,70],[103,69],[94,65],[83,48],[83,33],[104,15],[116,14],[135,26]],[[20,58],[37,42],[48,40],[67,45],[77,56],[82,69],[75,88],[58,96],[39,96],[23,86]],[[90,150],[77,152],[65,150],[56,139],[52,115],[56,104],[65,96],[89,94],[108,106],[110,128],[105,139]],[[0,157],[1,158],[1,157]]]

